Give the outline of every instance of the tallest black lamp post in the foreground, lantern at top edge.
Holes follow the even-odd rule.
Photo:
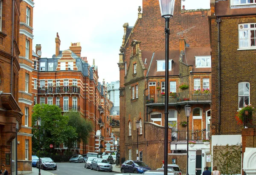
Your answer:
[[[164,135],[164,175],[168,168],[168,97],[169,97],[169,20],[173,17],[175,0],[159,0],[161,16],[165,18],[166,53],[165,53],[165,135]]]

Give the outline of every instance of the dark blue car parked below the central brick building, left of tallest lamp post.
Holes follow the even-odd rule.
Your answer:
[[[121,165],[121,172],[126,173],[126,172],[131,172],[131,173],[140,173],[142,174],[143,172],[150,170],[151,168],[148,167],[143,161],[125,161]]]

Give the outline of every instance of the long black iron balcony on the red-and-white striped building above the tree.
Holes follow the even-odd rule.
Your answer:
[[[39,88],[38,94],[79,94],[80,88],[77,86],[53,86]]]

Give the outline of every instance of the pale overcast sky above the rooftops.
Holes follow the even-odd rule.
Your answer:
[[[99,81],[119,80],[119,48],[124,23],[134,26],[142,0],[34,0],[33,50],[41,44],[42,56],[55,54],[58,32],[60,50],[80,42],[81,56],[98,66]],[[199,4],[199,5],[198,5]],[[100,6],[99,6],[100,5]],[[185,9],[209,9],[209,0],[182,1]],[[143,7],[142,7],[143,12]]]

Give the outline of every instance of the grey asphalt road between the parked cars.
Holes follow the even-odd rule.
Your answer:
[[[56,175],[114,175],[116,172],[96,171],[84,168],[84,163],[56,163],[57,170],[47,170]]]

